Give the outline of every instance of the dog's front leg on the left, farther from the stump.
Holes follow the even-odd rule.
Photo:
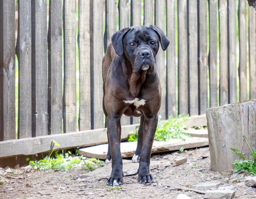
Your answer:
[[[123,163],[120,151],[120,118],[120,116],[112,115],[108,115],[107,117],[108,139],[112,157],[112,172],[107,181],[108,186],[118,186],[123,184]]]

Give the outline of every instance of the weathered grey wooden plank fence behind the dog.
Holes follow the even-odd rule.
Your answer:
[[[170,39],[156,59],[162,119],[256,98],[255,20],[246,0],[1,1],[0,157],[50,150],[53,139],[100,143],[101,60],[127,26],[156,24]]]

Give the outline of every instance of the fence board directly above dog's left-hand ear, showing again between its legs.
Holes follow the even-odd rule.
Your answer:
[[[129,0],[119,0],[118,9],[119,9],[119,29],[129,26]],[[130,117],[123,115],[121,117],[121,125],[131,124]]]

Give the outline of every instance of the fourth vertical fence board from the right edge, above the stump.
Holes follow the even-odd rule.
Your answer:
[[[227,1],[219,1],[220,18],[220,105],[227,104],[228,91],[228,48],[227,48]]]

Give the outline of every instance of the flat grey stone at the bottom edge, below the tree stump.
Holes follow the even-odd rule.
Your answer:
[[[217,189],[217,190],[206,190],[204,198],[233,198],[235,197],[235,191],[229,189]]]

